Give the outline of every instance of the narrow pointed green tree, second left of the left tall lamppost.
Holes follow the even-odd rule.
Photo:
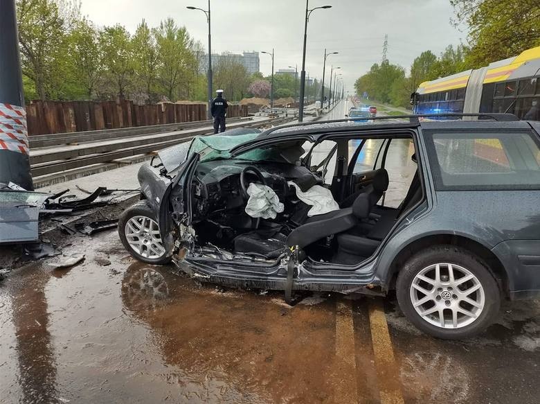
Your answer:
[[[132,46],[137,84],[145,92],[146,102],[151,103],[159,69],[159,58],[156,38],[144,19],[135,30]]]

